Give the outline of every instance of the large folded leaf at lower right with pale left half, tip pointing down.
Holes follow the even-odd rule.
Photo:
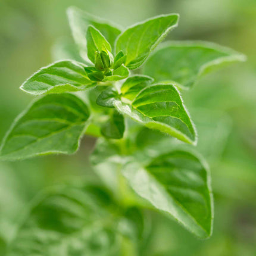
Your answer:
[[[210,174],[196,155],[177,150],[161,155],[146,167],[129,163],[122,172],[135,192],[155,208],[171,214],[200,238],[211,235]]]

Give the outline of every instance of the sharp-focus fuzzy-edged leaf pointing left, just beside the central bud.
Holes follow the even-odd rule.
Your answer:
[[[21,85],[20,89],[33,95],[89,89],[94,83],[89,80],[84,67],[76,61],[57,61],[40,68]]]

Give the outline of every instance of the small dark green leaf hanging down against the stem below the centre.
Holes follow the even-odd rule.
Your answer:
[[[124,117],[122,114],[113,110],[110,118],[101,129],[101,133],[105,138],[121,139],[124,135]]]

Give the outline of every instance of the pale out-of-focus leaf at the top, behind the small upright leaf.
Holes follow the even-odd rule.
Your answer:
[[[121,33],[121,30],[118,29],[116,25],[110,24],[107,20],[86,13],[76,7],[68,8],[67,15],[73,38],[79,46],[84,58],[87,57],[85,35],[89,25],[98,29],[114,49],[115,39]]]

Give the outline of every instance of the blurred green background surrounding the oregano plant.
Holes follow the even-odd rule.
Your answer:
[[[65,10],[75,5],[121,26],[179,13],[170,40],[207,40],[247,55],[246,63],[210,74],[183,98],[198,126],[198,150],[211,167],[213,236],[200,241],[156,214],[145,255],[256,255],[256,1],[255,0],[0,0],[0,138],[32,100],[18,89],[51,63],[52,46],[70,38]],[[72,156],[0,163],[0,248],[39,191],[74,177],[97,179],[88,162],[94,139]],[[0,251],[0,255],[1,251]]]

